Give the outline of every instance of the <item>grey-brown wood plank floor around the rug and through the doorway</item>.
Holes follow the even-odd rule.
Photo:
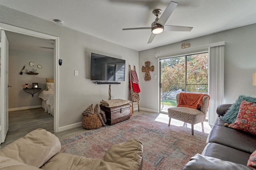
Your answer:
[[[152,113],[148,111],[134,111],[133,115],[141,113],[158,115],[158,113]],[[0,148],[16,141],[20,137],[24,137],[27,133],[38,129],[46,129],[47,131],[56,135],[59,139],[64,139],[78,133],[87,131],[82,126],[66,131],[54,133],[53,131],[53,116],[47,112],[44,112],[43,108],[26,109],[18,111],[9,111],[9,130],[6,135],[4,143],[1,143]]]

